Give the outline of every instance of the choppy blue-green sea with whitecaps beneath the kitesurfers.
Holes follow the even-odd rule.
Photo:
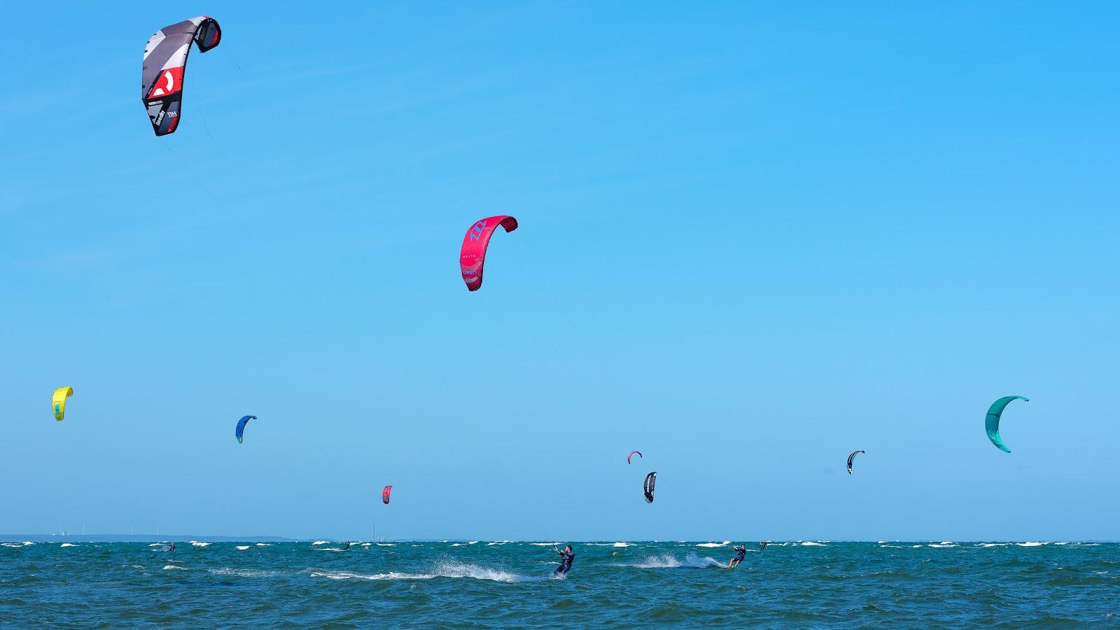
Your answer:
[[[9,541],[3,628],[1120,628],[1120,544]],[[736,541],[738,543],[738,541]]]

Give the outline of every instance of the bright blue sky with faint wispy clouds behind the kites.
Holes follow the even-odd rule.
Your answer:
[[[0,531],[1120,538],[1120,8],[262,7],[6,10]]]

